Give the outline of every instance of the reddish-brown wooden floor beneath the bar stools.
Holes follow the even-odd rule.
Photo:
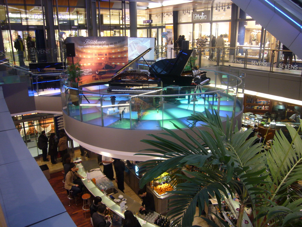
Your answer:
[[[85,213],[83,214],[82,206],[83,200],[82,198],[77,198],[77,205],[74,203],[74,200],[71,201],[71,205],[69,205],[69,199],[67,198],[66,189],[63,189],[63,174],[61,172],[52,173],[50,174],[49,183],[53,187],[53,190],[56,192],[57,196],[63,203],[66,211],[75,222],[76,226],[78,227],[92,227],[90,224],[90,212],[89,210],[86,211],[86,218]],[[92,198],[91,198],[92,201]]]

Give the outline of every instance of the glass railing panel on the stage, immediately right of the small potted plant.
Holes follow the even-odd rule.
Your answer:
[[[82,121],[89,124],[102,126],[102,100],[100,94],[89,93],[80,90],[80,107],[82,111]]]

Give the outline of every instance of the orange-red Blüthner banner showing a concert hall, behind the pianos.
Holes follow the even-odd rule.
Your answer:
[[[82,84],[108,81],[121,67],[128,63],[126,36],[116,37],[68,37],[66,43],[75,44],[76,57],[81,59]],[[68,57],[72,64],[72,57]]]

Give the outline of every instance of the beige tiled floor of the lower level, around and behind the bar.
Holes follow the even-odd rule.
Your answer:
[[[80,157],[81,154],[80,154],[80,150],[76,150],[74,153],[70,153],[70,156],[73,158],[73,157]],[[50,157],[48,157],[50,159]],[[82,157],[83,158],[83,157]],[[56,172],[59,172],[59,171],[62,171],[63,170],[63,165],[62,165],[62,162],[61,162],[61,158],[59,158],[57,160],[58,163],[56,164],[51,164],[51,162],[43,162],[42,160],[42,157],[39,159],[37,158],[36,159],[38,165],[43,165],[43,164],[47,164],[49,170],[50,170],[50,173],[56,173]],[[103,170],[103,165],[100,166],[100,168]],[[115,171],[114,171],[114,178],[115,178]],[[114,181],[114,186],[117,187],[117,183],[115,183]],[[139,196],[137,196],[137,194],[125,183],[125,189],[124,189],[124,193],[127,195],[127,196],[130,196],[132,199],[135,199],[137,202],[141,203],[142,200],[140,199]],[[202,226],[202,227],[208,227],[207,225],[207,222],[205,222],[201,217],[198,216],[198,207],[196,208],[196,213],[195,213],[195,217],[194,217],[194,222],[193,222],[193,225],[199,225],[199,226]],[[202,217],[206,217],[205,215],[202,215]]]

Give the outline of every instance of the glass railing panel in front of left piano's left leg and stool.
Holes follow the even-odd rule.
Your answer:
[[[102,114],[105,127],[130,129],[130,97],[118,94],[103,95]]]

